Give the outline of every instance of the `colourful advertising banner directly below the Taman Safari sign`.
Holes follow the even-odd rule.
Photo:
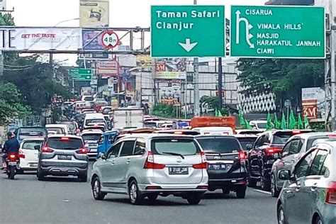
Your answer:
[[[155,71],[155,79],[186,79],[186,58],[159,59]]]

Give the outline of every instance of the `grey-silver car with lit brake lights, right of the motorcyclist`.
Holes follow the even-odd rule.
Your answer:
[[[45,176],[76,176],[87,181],[87,150],[82,137],[50,135],[38,155],[38,180]]]

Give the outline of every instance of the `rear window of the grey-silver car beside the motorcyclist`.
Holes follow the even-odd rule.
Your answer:
[[[49,138],[47,140],[47,147],[51,147],[56,150],[77,150],[83,147],[83,142],[79,138]]]

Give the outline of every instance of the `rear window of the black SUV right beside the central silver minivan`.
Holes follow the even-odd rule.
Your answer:
[[[239,152],[240,144],[236,138],[198,138],[204,152],[233,153]]]

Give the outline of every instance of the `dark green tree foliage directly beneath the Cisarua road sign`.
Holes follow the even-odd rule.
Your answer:
[[[276,96],[299,96],[301,88],[322,86],[324,83],[323,60],[244,59],[237,68],[242,94],[257,95],[273,92]]]

